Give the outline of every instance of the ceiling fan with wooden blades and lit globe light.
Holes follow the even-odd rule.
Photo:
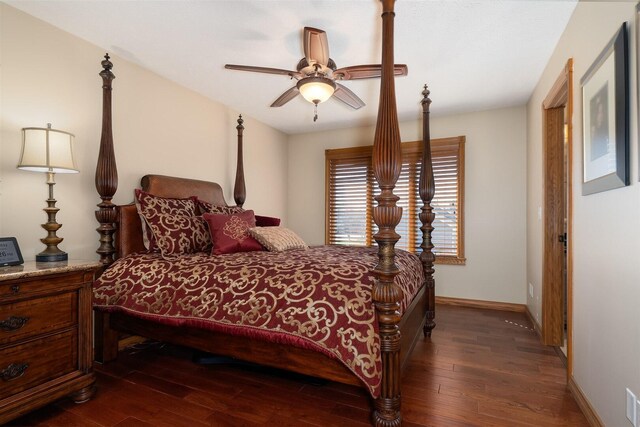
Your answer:
[[[380,77],[382,66],[380,64],[368,64],[337,68],[336,63],[329,57],[327,33],[317,28],[304,28],[302,45],[304,58],[298,62],[296,71],[235,64],[226,64],[224,68],[256,73],[282,74],[296,79],[296,85],[280,95],[271,106],[282,107],[300,93],[307,101],[315,104],[314,122],[318,119],[318,104],[326,101],[331,96],[336,97],[355,110],[364,107],[365,103],[362,99],[353,93],[351,89],[338,83],[337,80]],[[394,66],[395,76],[406,76],[407,72],[405,64],[396,64]]]

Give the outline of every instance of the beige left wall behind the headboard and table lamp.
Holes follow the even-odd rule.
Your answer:
[[[25,260],[44,249],[45,174],[16,169],[21,128],[75,134],[79,174],[58,174],[60,247],[94,259],[98,246],[94,173],[100,143],[105,50],[0,3],[0,236],[16,236]],[[238,112],[112,55],[115,203],[133,200],[146,173],[217,181],[233,204]],[[286,223],[287,137],[245,117],[245,207]]]

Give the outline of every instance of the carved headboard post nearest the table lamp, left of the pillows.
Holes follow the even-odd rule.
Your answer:
[[[109,61],[109,54],[102,61],[102,136],[100,137],[100,152],[96,166],[96,190],[102,199],[98,204],[96,219],[100,226],[96,229],[100,234],[100,247],[96,252],[100,254],[100,262],[107,266],[114,260],[116,252],[113,246],[113,233],[116,231],[116,206],[111,202],[118,189],[118,170],[116,157],[113,152],[113,134],[111,132],[111,81],[115,78],[111,72],[113,64]]]

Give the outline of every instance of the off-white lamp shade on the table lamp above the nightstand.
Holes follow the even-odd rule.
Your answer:
[[[18,169],[33,172],[77,173],[73,134],[49,128],[22,129]]]

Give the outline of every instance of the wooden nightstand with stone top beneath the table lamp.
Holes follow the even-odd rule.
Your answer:
[[[0,268],[0,424],[94,393],[91,283],[99,262]]]

